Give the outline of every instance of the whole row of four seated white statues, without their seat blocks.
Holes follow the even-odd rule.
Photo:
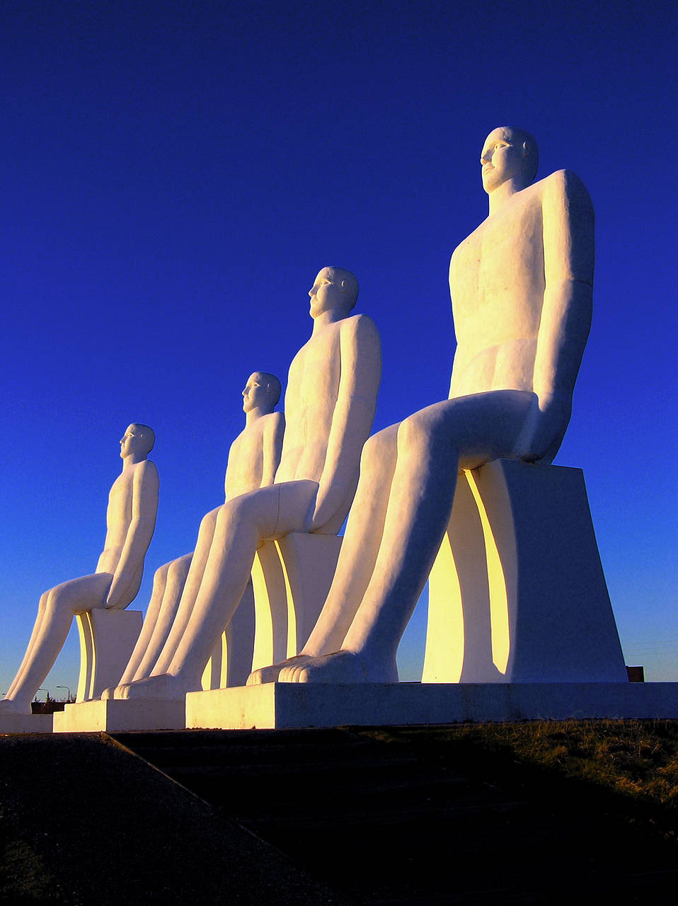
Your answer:
[[[457,350],[448,399],[368,439],[379,336],[369,317],[351,315],[354,275],[321,270],[285,416],[273,411],[279,381],[255,372],[243,394],[246,427],[228,457],[226,502],[204,517],[193,554],[156,573],[137,646],[103,698],[182,699],[200,689],[257,546],[291,532],[336,534],[349,509],[334,582],[303,650],[247,682],[397,682],[398,644],[450,521],[460,469],[497,458],[552,461],[591,320],[586,188],[567,170],[534,183],[537,144],[523,130],[493,130],[480,162],[489,217],[450,261]],[[136,594],[157,505],[151,446],[150,429],[131,425],[97,572],[43,596],[0,712],[30,708],[73,613],[126,607]]]

